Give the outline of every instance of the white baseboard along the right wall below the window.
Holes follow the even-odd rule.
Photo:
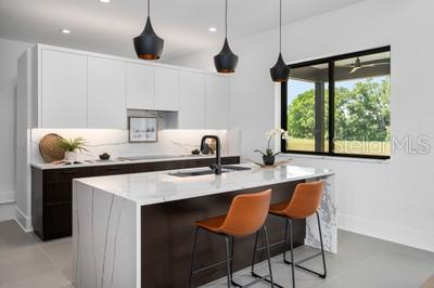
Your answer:
[[[434,232],[337,213],[339,228],[434,252]]]

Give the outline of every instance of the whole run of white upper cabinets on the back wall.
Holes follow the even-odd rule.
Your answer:
[[[179,129],[229,128],[229,78],[37,44],[28,52],[34,128],[127,129],[127,109],[175,112]]]

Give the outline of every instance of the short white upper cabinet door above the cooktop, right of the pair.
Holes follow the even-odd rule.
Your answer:
[[[177,112],[179,109],[179,71],[155,67],[155,109]]]

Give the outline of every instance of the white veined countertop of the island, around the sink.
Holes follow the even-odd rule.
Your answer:
[[[135,201],[139,206],[174,201],[200,196],[239,191],[278,183],[331,175],[331,170],[283,165],[259,168],[254,163],[239,165],[252,170],[233,171],[221,175],[208,174],[179,178],[174,171],[195,171],[206,168],[110,175],[74,180],[94,188]]]

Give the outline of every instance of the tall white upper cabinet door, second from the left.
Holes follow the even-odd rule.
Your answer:
[[[89,57],[89,128],[126,129],[125,63]]]

